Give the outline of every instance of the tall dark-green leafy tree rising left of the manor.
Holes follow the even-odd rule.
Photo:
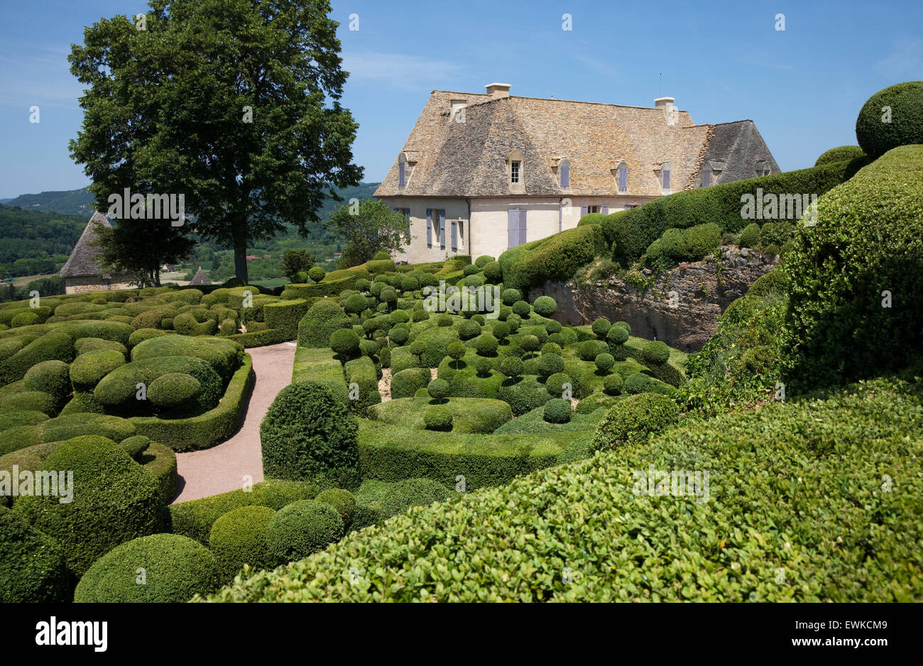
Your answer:
[[[97,205],[126,187],[184,195],[189,226],[233,247],[244,280],[248,244],[285,224],[306,234],[333,187],[362,177],[329,13],[328,0],[151,0],[86,29],[69,56],[87,86],[70,149]]]

